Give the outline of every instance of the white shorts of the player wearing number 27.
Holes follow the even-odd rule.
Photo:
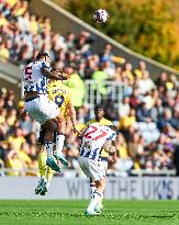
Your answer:
[[[102,161],[89,159],[88,157],[79,156],[78,162],[83,173],[91,178],[92,181],[101,180],[105,177],[105,168]]]

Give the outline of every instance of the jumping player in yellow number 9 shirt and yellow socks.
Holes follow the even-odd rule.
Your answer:
[[[59,108],[59,112],[60,112],[60,116],[61,116],[61,123],[60,123],[60,127],[58,127],[58,131],[60,131],[60,134],[58,134],[58,136],[60,137],[60,140],[58,143],[58,139],[56,138],[56,134],[54,135],[56,138],[56,143],[58,144],[58,146],[56,145],[56,151],[54,153],[54,157],[56,159],[58,158],[58,155],[61,155],[61,150],[63,150],[63,146],[64,146],[64,140],[65,140],[65,130],[66,130],[66,122],[67,122],[67,117],[70,116],[71,123],[72,123],[72,127],[74,131],[76,132],[76,111],[74,105],[71,104],[70,101],[70,89],[65,86],[61,81],[51,81],[48,83],[48,97],[52,101],[54,101],[58,108]],[[38,170],[40,170],[40,175],[41,175],[41,180],[38,181],[38,185],[35,189],[35,193],[36,194],[42,194],[44,195],[49,187],[49,182],[51,179],[53,178],[53,170],[46,166],[46,151],[44,151],[44,134],[45,134],[45,130],[42,127],[41,133],[40,133],[40,138],[38,138],[38,143],[40,143],[40,155],[38,155]],[[54,143],[55,143],[55,138],[54,138]]]

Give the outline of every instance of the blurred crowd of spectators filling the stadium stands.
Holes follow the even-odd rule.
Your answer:
[[[93,54],[93,42],[96,40],[86,31],[79,35],[69,32],[66,36],[53,32],[49,18],[29,12],[29,1],[0,0],[0,60],[23,67],[38,52],[47,52],[55,61],[54,67],[71,74],[67,86],[71,88],[79,127],[90,120],[89,108],[83,105],[85,80],[125,83],[118,108],[110,98],[102,102],[107,106],[105,117],[118,127],[118,158],[113,161],[109,157],[111,171],[127,176],[132,169],[148,172],[174,169],[174,151],[179,142],[178,78],[161,72],[152,80],[144,61],[133,68],[130,61],[114,56],[108,43],[102,53]],[[29,115],[19,119],[22,110],[23,103],[20,101],[16,105],[14,92],[1,88],[0,165],[18,169],[7,170],[5,175],[35,175],[33,169],[37,169],[40,127]],[[77,175],[74,171],[78,171],[79,140],[70,128],[66,134],[64,153],[70,161],[69,169]],[[4,175],[1,170],[0,173]]]

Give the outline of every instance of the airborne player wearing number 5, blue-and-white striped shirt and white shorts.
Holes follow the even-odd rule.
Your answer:
[[[47,151],[46,165],[53,170],[60,172],[60,168],[53,158],[54,131],[60,127],[61,115],[58,105],[49,100],[47,94],[48,79],[68,79],[63,72],[52,72],[49,67],[49,56],[47,53],[40,53],[36,60],[30,63],[23,71],[25,110],[40,124],[46,128],[45,149]],[[57,135],[56,147],[61,148],[64,135]],[[61,164],[68,165],[63,155],[58,155]]]

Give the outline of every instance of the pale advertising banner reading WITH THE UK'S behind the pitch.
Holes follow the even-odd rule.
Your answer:
[[[89,181],[81,178],[55,177],[45,196],[35,195],[35,177],[0,177],[0,199],[88,199]],[[105,199],[111,200],[178,200],[179,178],[127,177],[108,178]]]

